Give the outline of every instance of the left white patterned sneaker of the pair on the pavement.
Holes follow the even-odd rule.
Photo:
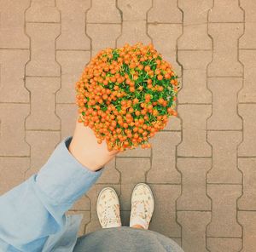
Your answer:
[[[113,188],[102,189],[97,199],[96,210],[102,228],[122,226],[119,197]]]

